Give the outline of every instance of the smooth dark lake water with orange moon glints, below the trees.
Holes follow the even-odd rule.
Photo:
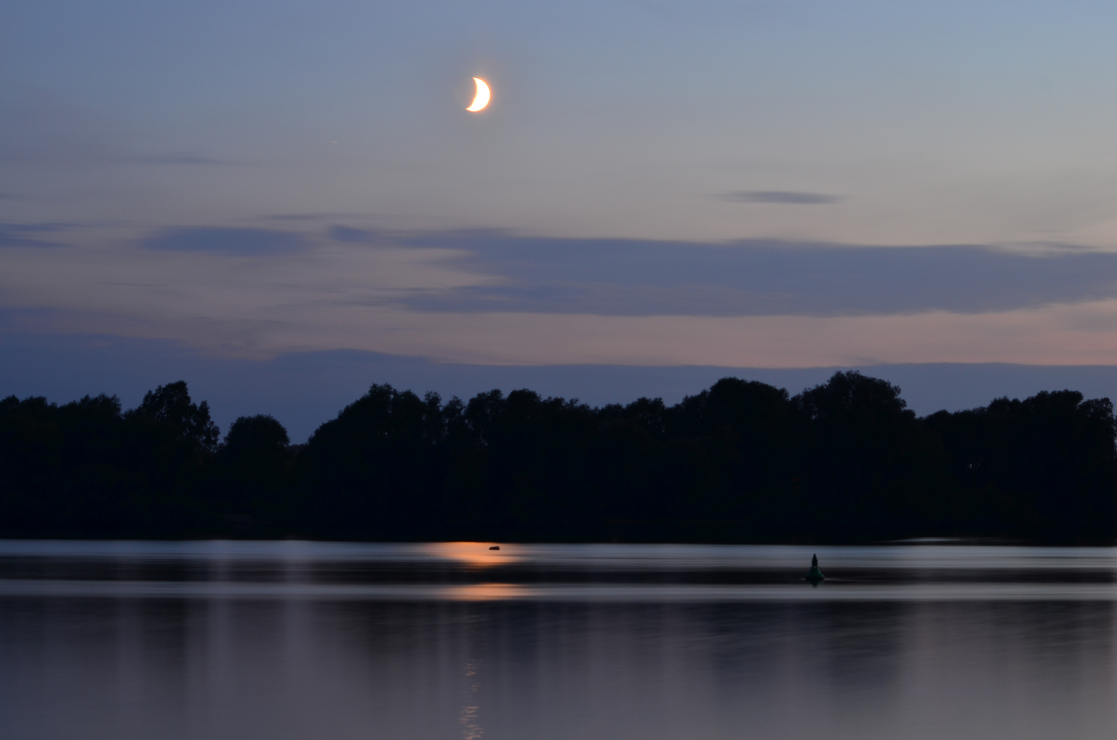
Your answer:
[[[0,738],[1108,740],[1115,572],[944,543],[0,541]]]

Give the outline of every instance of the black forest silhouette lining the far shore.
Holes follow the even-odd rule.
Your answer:
[[[1000,398],[917,417],[858,372],[790,396],[724,378],[667,406],[391,386],[303,445],[270,416],[221,440],[183,381],[0,400],[0,537],[1111,542],[1109,399]]]

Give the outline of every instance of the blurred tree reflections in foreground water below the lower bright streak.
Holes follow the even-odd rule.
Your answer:
[[[3,599],[0,729],[34,700],[70,737],[122,740],[1101,738],[1115,617],[1099,601]]]

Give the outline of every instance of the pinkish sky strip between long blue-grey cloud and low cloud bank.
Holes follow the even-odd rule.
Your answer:
[[[1117,364],[1117,301],[962,315],[594,316],[417,314],[315,305],[266,319],[221,311],[27,312],[15,331],[174,339],[230,357],[352,349],[476,364],[810,368],[875,363]]]

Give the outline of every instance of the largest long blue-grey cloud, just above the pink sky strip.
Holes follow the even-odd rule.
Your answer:
[[[423,311],[603,315],[983,313],[1117,296],[1117,254],[984,246],[728,245],[459,231],[405,239],[464,250],[497,285],[414,295]]]

